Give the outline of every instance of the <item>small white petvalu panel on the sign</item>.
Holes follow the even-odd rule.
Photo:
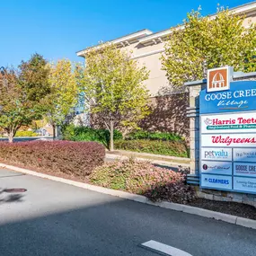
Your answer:
[[[255,150],[256,153],[256,150]],[[202,160],[232,161],[232,148],[201,148]]]

